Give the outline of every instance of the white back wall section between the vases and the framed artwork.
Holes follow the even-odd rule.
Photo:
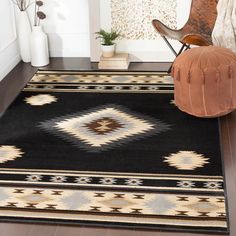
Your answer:
[[[52,57],[89,57],[88,0],[47,0],[41,8]],[[33,23],[34,6],[29,8]]]

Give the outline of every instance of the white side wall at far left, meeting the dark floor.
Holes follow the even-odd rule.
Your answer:
[[[14,9],[10,0],[1,0],[0,16],[0,80],[2,80],[20,61]]]

